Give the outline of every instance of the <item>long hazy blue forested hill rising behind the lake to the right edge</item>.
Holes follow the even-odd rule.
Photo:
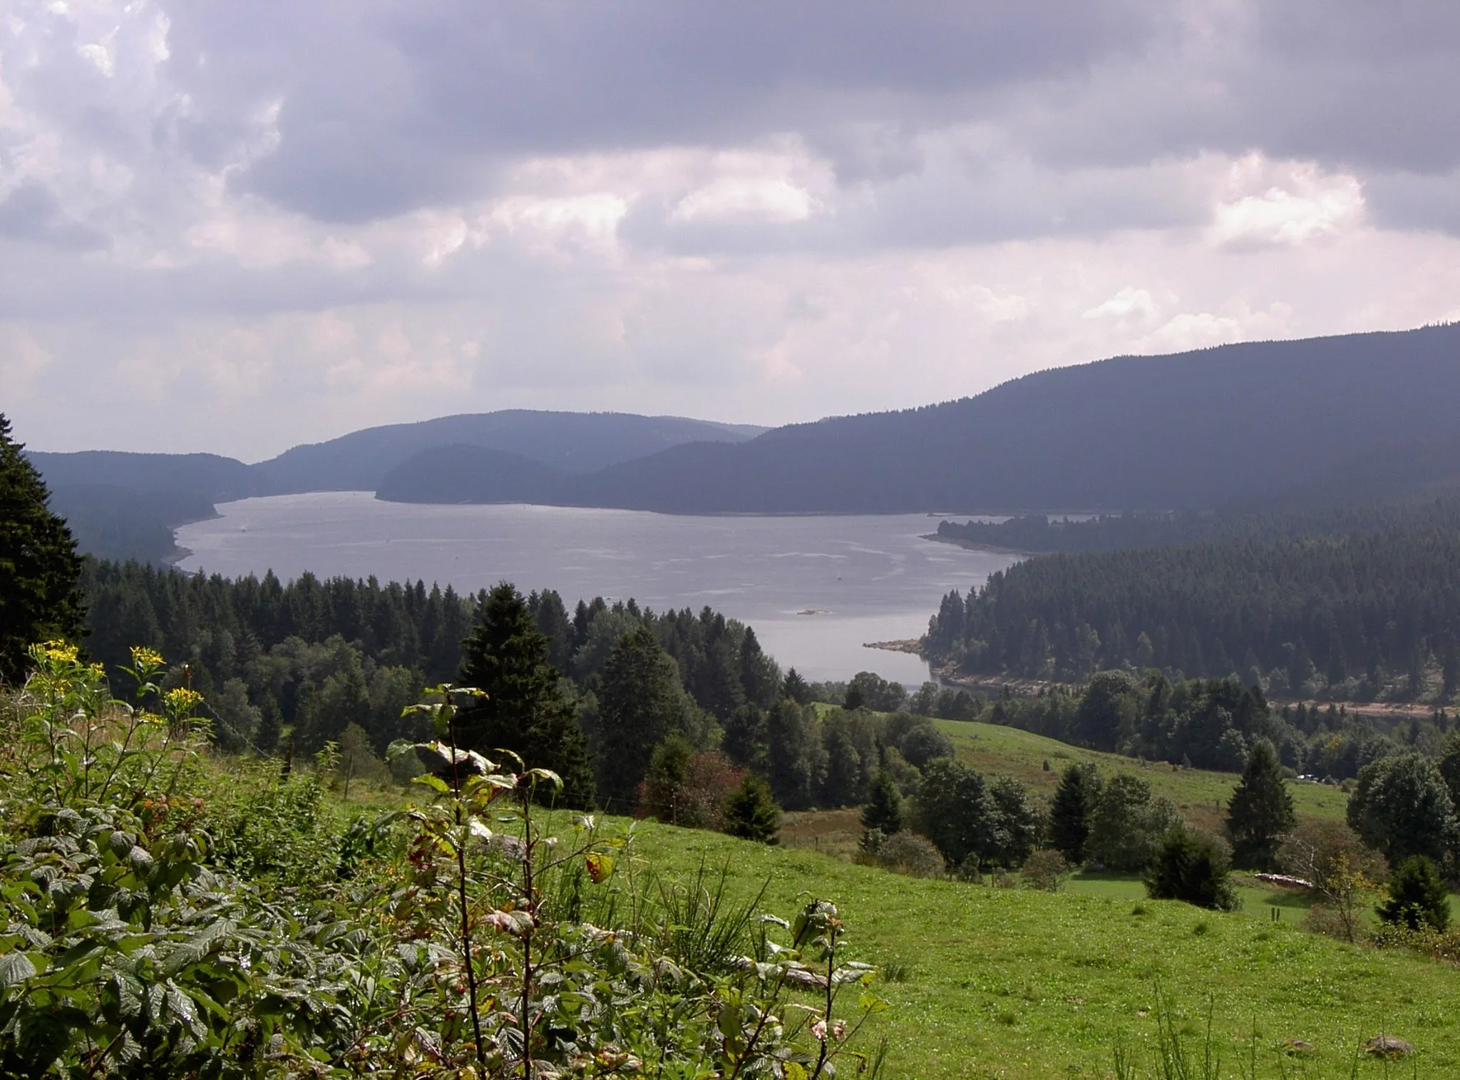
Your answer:
[[[1259,342],[1058,368],[978,397],[691,444],[613,466],[583,502],[677,512],[1171,509],[1324,487],[1383,450],[1362,499],[1444,487],[1460,433],[1460,325]],[[1407,464],[1406,464],[1407,463]]]

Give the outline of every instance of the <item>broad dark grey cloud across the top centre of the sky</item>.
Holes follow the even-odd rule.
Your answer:
[[[955,118],[969,93],[1083,70],[1150,22],[1130,0],[248,12],[180,12],[174,72],[225,111],[242,88],[282,96],[282,143],[238,184],[339,220],[460,197],[520,155]]]

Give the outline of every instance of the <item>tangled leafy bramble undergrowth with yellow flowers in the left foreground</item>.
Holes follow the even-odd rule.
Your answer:
[[[437,737],[397,747],[435,763],[428,800],[340,829],[323,771],[219,769],[156,654],[130,705],[73,648],[32,661],[0,743],[6,1076],[880,1070],[832,903],[758,915],[635,873],[632,832],[553,833],[556,776],[457,746],[474,692],[438,687]]]

